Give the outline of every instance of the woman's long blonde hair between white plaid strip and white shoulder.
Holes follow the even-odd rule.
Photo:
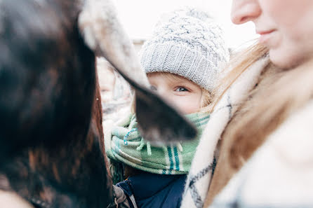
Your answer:
[[[269,134],[313,96],[313,64],[281,70],[269,64],[258,86],[222,134],[220,158],[205,206],[226,186]]]

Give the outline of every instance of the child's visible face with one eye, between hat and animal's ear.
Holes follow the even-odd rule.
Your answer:
[[[147,74],[157,93],[182,113],[195,113],[201,107],[202,90],[187,78],[169,73]]]

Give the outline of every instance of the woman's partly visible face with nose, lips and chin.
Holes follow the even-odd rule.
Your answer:
[[[274,64],[292,67],[313,58],[312,0],[233,0],[232,22],[248,21]]]

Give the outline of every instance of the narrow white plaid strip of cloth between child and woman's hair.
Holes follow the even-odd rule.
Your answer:
[[[211,119],[208,121],[200,139],[192,168],[187,176],[182,208],[203,207],[211,181],[213,155],[218,140],[227,123],[237,111],[239,104],[246,99],[248,92],[253,89],[262,70],[268,63],[268,57],[263,57],[255,62],[249,69],[244,71],[215,106]]]

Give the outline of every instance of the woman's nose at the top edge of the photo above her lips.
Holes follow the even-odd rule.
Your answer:
[[[231,19],[234,24],[240,25],[258,18],[262,10],[258,0],[233,0]]]

